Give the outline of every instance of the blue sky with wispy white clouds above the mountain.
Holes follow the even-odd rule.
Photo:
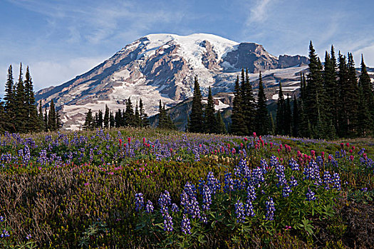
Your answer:
[[[333,44],[374,66],[373,10],[371,0],[0,0],[0,92],[10,64],[29,65],[40,90],[149,33],[213,33],[276,56],[307,55],[312,40],[322,60]]]

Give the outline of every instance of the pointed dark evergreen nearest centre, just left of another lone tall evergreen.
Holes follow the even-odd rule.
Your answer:
[[[197,76],[194,77],[194,96],[192,98],[192,110],[189,115],[189,132],[203,132],[204,123],[202,115],[202,95]]]

